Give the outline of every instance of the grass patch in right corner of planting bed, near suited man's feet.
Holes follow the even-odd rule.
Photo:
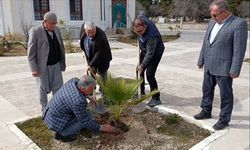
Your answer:
[[[162,116],[165,124],[157,128],[157,132],[177,138],[179,142],[187,142],[193,138],[202,138],[210,135],[208,130],[197,127],[194,124],[184,121],[178,114]]]

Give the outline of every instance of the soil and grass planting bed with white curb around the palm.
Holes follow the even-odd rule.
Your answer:
[[[94,115],[97,122],[105,122]],[[126,110],[121,121],[129,126],[122,134],[93,134],[81,131],[77,140],[62,143],[53,138],[41,118],[17,123],[17,126],[41,149],[189,149],[210,135],[208,130],[188,123],[177,114],[162,115],[149,109],[141,113]]]

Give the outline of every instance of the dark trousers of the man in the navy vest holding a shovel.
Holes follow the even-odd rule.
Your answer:
[[[142,63],[143,59],[144,59],[145,55],[143,55],[142,53],[140,54],[140,64]],[[144,74],[146,71],[146,77],[150,86],[150,90],[153,91],[155,89],[158,89],[158,85],[157,85],[157,81],[155,78],[155,73],[157,70],[157,67],[159,65],[159,62],[161,60],[162,54],[158,55],[158,56],[154,56],[151,60],[151,62],[149,63],[148,66],[146,66],[146,68],[144,68],[143,72],[140,74],[141,79],[143,80],[142,84],[141,84],[141,93],[145,93],[145,78],[144,78]],[[152,98],[160,98],[160,92],[156,93],[155,95],[152,96]]]

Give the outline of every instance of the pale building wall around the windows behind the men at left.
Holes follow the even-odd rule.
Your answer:
[[[95,22],[104,30],[112,27],[111,0],[82,0],[83,20],[81,21],[70,20],[69,0],[49,0],[49,2],[50,11],[57,14],[58,21],[63,20],[65,25],[74,32],[79,32],[77,30],[87,20]],[[33,0],[0,0],[0,4],[0,34],[8,31],[22,34],[23,24],[37,26],[42,23],[34,19]],[[130,20],[133,20],[134,16],[135,0],[127,0],[127,27],[130,27]]]

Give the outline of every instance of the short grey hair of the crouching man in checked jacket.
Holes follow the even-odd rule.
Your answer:
[[[80,88],[88,88],[92,86],[93,88],[96,87],[96,81],[93,77],[84,75],[80,78],[80,80],[77,83],[77,87]]]

